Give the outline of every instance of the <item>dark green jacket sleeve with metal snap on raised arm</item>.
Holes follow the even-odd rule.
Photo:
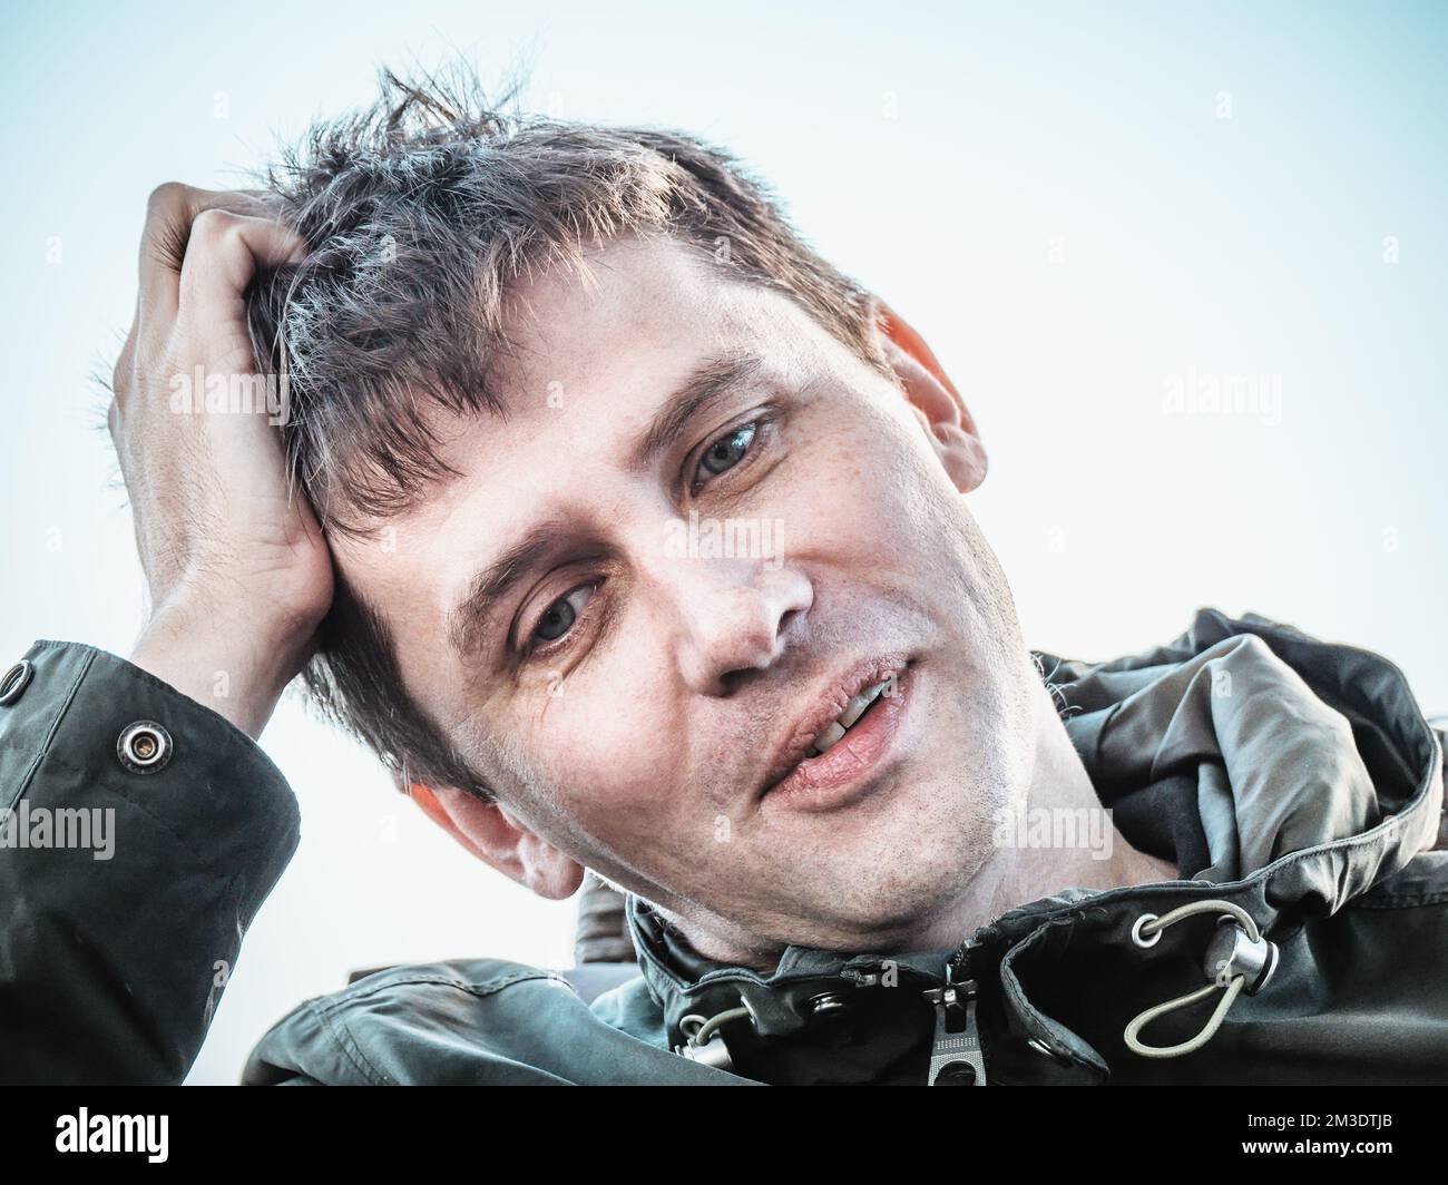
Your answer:
[[[38,642],[0,681],[0,1081],[180,1082],[298,839],[251,737]]]

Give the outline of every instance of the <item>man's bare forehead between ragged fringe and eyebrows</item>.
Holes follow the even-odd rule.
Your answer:
[[[749,352],[763,375],[791,382],[853,358],[788,297],[668,239],[614,242],[582,274],[515,285],[505,329],[494,368],[504,413],[424,410],[456,477],[372,537],[336,546],[394,632],[436,630],[478,565],[540,519],[597,514],[630,446],[702,361]]]

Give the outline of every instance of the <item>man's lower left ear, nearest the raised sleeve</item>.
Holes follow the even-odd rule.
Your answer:
[[[407,787],[423,813],[479,861],[539,897],[562,901],[584,882],[584,866],[533,834],[497,803],[455,787]]]

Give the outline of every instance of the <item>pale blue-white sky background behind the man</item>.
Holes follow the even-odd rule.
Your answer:
[[[139,623],[88,374],[130,320],[148,191],[236,184],[278,135],[366,100],[375,64],[462,52],[531,62],[555,114],[730,145],[915,322],[992,448],[975,506],[1035,645],[1106,656],[1199,604],[1257,610],[1387,653],[1448,711],[1445,13],[7,6],[0,656],[36,636],[125,653]],[[1163,414],[1189,369],[1277,375],[1281,422]],[[571,903],[476,866],[298,707],[265,745],[306,834],[193,1081],[235,1081],[350,968],[568,962]]]

